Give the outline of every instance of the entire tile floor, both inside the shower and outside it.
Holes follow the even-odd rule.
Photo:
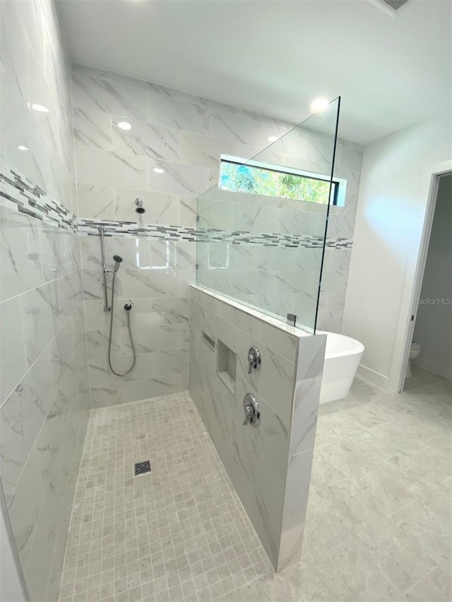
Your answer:
[[[93,411],[61,601],[450,600],[451,416],[417,369],[322,406],[302,562],[274,574],[188,394]]]

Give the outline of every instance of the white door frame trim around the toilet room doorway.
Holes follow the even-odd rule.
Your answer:
[[[427,198],[427,207],[424,215],[424,225],[422,227],[422,236],[420,241],[419,253],[415,265],[415,277],[413,280],[410,315],[408,315],[405,327],[405,337],[403,351],[398,366],[397,390],[403,391],[405,383],[405,372],[410,354],[412,335],[415,330],[418,303],[420,298],[422,281],[424,279],[425,265],[427,263],[427,253],[429,251],[430,236],[432,235],[433,218],[436,207],[436,197],[438,195],[439,178],[452,172],[452,160],[443,161],[430,165],[422,171],[420,194],[422,198]]]

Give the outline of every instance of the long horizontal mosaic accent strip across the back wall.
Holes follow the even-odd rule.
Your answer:
[[[78,229],[81,234],[97,236],[97,229],[105,228],[105,236],[152,236],[156,239],[174,241],[199,241],[202,243],[254,244],[261,246],[321,248],[322,236],[297,236],[294,234],[253,234],[245,230],[194,229],[179,226],[162,226],[160,224],[144,224],[137,222],[107,221],[103,219],[80,219]],[[352,248],[352,240],[345,238],[328,238],[328,248]]]

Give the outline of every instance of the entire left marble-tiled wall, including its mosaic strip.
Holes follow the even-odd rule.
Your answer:
[[[0,477],[30,598],[47,601],[90,412],[70,72],[52,2],[2,2],[0,22]]]

